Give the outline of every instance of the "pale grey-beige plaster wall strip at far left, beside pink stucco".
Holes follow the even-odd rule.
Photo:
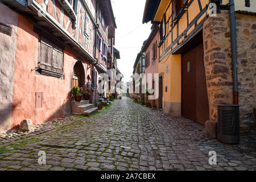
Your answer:
[[[8,15],[8,16],[6,16]],[[13,77],[18,14],[0,2],[0,23],[11,27],[11,35],[0,32],[0,131],[11,126]]]

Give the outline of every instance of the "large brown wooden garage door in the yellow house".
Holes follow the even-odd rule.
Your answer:
[[[209,119],[209,103],[203,63],[203,43],[184,53],[181,63],[181,114],[204,124]]]

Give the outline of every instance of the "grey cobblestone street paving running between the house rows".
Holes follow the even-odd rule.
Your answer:
[[[56,122],[56,120],[55,120]],[[91,117],[60,118],[44,131],[0,140],[0,170],[254,170],[255,135],[238,145],[204,138],[204,127],[115,100]],[[47,126],[47,124],[45,125]],[[38,164],[38,152],[46,164]],[[209,151],[217,152],[210,165]]]

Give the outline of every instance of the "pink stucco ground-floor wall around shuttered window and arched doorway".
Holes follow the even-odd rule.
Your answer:
[[[33,31],[33,25],[21,15],[17,29],[11,127],[19,125],[24,118],[32,119],[36,125],[52,117],[70,114],[72,68],[79,56],[65,48],[64,78],[36,74],[31,70],[38,65],[38,34]],[[85,60],[82,62],[85,75],[91,75],[90,64]],[[35,107],[36,92],[43,93],[43,104],[39,108]]]

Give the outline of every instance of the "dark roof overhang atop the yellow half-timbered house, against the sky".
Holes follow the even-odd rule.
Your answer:
[[[161,0],[146,0],[142,23],[147,23],[154,19],[160,2]]]

